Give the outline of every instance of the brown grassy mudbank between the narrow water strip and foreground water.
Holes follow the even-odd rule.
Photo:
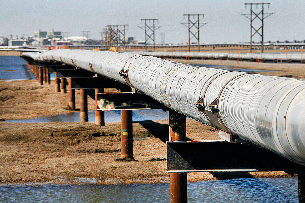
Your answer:
[[[120,162],[120,123],[0,123],[0,183],[164,183],[168,120],[133,123],[134,157]],[[218,140],[217,131],[187,119],[187,137]],[[150,161],[151,160],[151,161]],[[156,161],[161,160],[161,161]],[[188,173],[188,181],[234,177],[287,177],[271,173]]]

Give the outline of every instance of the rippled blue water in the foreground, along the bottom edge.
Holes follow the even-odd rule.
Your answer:
[[[188,202],[297,202],[297,178],[188,183]],[[2,185],[1,202],[169,202],[169,184]]]

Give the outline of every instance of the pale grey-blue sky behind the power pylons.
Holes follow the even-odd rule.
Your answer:
[[[126,37],[144,40],[141,18],[158,18],[156,43],[165,33],[165,43],[187,41],[188,31],[179,22],[187,22],[183,14],[205,14],[200,22],[208,22],[200,29],[202,43],[237,43],[249,41],[250,20],[239,13],[249,13],[251,1],[67,1],[67,0],[0,0],[0,36],[9,34],[33,35],[34,31],[70,32],[69,36],[82,36],[82,30],[90,30],[91,38],[99,39],[99,32],[108,24],[129,24]],[[264,12],[275,12],[264,20],[264,41],[304,40],[305,5],[304,1],[271,0],[270,8]],[[261,3],[261,1],[252,1]],[[260,8],[255,9],[259,12]],[[260,23],[257,21],[257,23]],[[279,36],[280,35],[280,36]],[[182,39],[181,37],[184,37]],[[256,35],[253,40],[259,41]],[[192,41],[196,41],[193,39]]]

